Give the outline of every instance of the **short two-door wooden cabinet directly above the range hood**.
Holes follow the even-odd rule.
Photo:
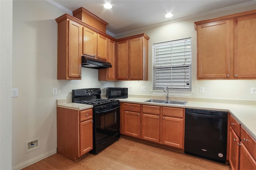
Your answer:
[[[83,27],[83,55],[108,60],[108,38]]]

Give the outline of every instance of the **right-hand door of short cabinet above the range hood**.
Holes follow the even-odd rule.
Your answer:
[[[98,34],[97,59],[108,60],[108,38]]]

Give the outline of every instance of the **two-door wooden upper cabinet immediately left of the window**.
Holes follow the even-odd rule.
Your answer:
[[[148,80],[148,39],[134,35],[117,42],[117,80]]]

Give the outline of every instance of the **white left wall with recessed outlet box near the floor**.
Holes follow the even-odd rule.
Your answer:
[[[65,12],[43,0],[13,1],[12,168],[56,153],[56,100],[77,88],[114,86],[99,82],[98,70],[82,68],[82,80],[57,80],[57,23]],[[52,95],[52,88],[58,94]],[[25,141],[40,138],[40,149],[25,153]]]

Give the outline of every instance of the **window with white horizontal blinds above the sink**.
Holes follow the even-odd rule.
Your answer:
[[[153,44],[153,90],[191,92],[191,38]]]

